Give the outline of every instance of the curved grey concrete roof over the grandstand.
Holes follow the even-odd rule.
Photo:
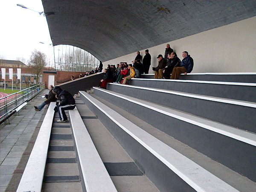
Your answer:
[[[255,0],[42,2],[53,45],[80,47],[101,61],[256,15]]]

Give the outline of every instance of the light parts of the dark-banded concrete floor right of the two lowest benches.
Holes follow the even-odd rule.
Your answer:
[[[76,103],[83,103],[76,99]],[[81,116],[95,116],[86,105],[76,105]],[[90,137],[104,163],[134,162],[99,119],[83,119]],[[156,186],[145,175],[111,176],[118,191],[123,192],[159,192]]]

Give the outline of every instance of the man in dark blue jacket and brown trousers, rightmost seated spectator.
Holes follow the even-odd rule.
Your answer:
[[[172,70],[172,76],[171,79],[179,79],[180,74],[184,73],[185,75],[187,73],[190,73],[194,66],[194,61],[192,57],[190,57],[189,53],[184,51],[182,52],[183,60],[180,63],[181,67],[174,67]]]

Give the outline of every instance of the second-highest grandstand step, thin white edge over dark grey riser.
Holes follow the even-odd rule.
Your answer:
[[[131,79],[130,84],[140,87],[151,87],[256,102],[256,83],[172,79]]]

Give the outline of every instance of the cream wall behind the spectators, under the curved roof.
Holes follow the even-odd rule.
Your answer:
[[[180,60],[183,51],[189,52],[194,59],[192,73],[256,72],[256,17],[146,48],[151,54],[149,73],[157,66],[157,55],[164,55],[166,44]],[[144,57],[145,49],[139,51]],[[131,64],[135,57],[136,52],[105,61],[103,66],[121,61]]]

